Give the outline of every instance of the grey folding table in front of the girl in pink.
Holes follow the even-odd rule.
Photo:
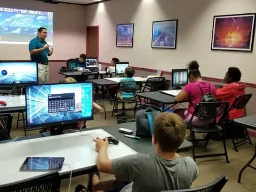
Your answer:
[[[139,98],[149,99],[149,100],[153,100],[155,102],[161,103],[162,111],[166,111],[167,109],[170,109],[171,107],[177,104],[177,102],[174,101],[175,97],[158,92],[158,91],[137,93],[136,95]],[[183,102],[187,102],[187,101],[185,100]],[[165,105],[171,105],[171,106],[165,109],[164,108]]]

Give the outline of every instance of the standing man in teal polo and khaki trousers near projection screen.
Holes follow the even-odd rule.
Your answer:
[[[53,53],[53,48],[50,50],[49,45],[45,41],[46,37],[47,29],[41,27],[37,30],[37,37],[29,42],[30,60],[37,62],[40,83],[48,82],[48,56],[51,56]]]

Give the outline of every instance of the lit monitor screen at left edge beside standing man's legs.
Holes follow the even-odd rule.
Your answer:
[[[0,62],[0,85],[37,84],[36,62]]]

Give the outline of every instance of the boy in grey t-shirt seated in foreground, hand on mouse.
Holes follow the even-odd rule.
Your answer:
[[[176,153],[184,140],[186,123],[173,113],[161,113],[154,121],[153,154],[135,154],[109,159],[108,141],[95,138],[99,171],[114,174],[116,180],[100,181],[99,173],[89,176],[88,191],[161,191],[189,189],[197,178],[198,168],[191,157]],[[90,182],[91,181],[91,182]],[[76,192],[85,191],[78,185]]]

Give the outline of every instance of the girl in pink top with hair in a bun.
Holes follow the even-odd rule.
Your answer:
[[[196,61],[190,62],[188,78],[190,83],[183,87],[183,90],[175,97],[175,101],[177,102],[188,99],[189,105],[187,110],[175,110],[175,113],[179,114],[186,123],[189,123],[190,118],[195,111],[195,106],[202,100],[203,94],[211,93],[212,95],[216,95],[214,85],[212,83],[203,81],[199,71],[199,65]],[[192,123],[196,126],[203,126],[205,123],[209,122],[201,121],[197,116],[194,116]]]

